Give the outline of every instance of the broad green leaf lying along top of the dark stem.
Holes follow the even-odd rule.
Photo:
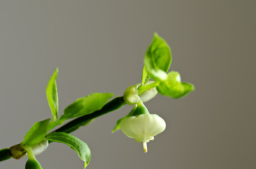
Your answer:
[[[60,119],[70,119],[88,115],[94,111],[98,111],[114,94],[110,93],[93,93],[86,97],[77,99],[73,104],[69,105]]]

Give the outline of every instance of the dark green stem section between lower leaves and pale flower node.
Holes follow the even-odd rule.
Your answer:
[[[124,101],[121,96],[116,97],[115,99],[112,99],[111,101],[107,102],[103,108],[101,108],[99,111],[95,111],[88,115],[83,115],[79,118],[76,118],[74,120],[71,120],[69,123],[66,123],[62,127],[59,127],[59,129],[54,130],[53,132],[74,132],[82,125],[88,125],[93,121],[95,118],[98,118],[100,115],[104,115],[106,113],[110,113],[111,111],[115,111],[118,108],[121,108],[124,105]]]

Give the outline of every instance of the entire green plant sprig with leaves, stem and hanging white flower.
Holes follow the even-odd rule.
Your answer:
[[[35,155],[45,151],[51,142],[58,142],[74,149],[86,168],[91,159],[91,150],[86,142],[70,133],[78,130],[81,126],[92,123],[100,115],[122,108],[125,104],[132,105],[132,111],[117,120],[112,132],[122,130],[127,137],[135,139],[136,142],[142,142],[146,153],[148,151],[147,143],[153,140],[157,134],[163,132],[166,124],[159,115],[149,113],[144,103],[153,99],[158,93],[178,99],[194,90],[193,84],[181,81],[178,72],[170,71],[168,73],[171,62],[170,47],[163,38],[155,33],[144,56],[141,82],[128,87],[123,96],[117,96],[112,100],[110,99],[114,94],[111,93],[93,93],[76,99],[74,103],[64,109],[64,113],[60,116],[56,84],[58,69],[56,69],[46,89],[52,118],[36,122],[19,144],[11,146],[9,149],[1,149],[0,161],[6,161],[11,157],[19,159],[28,155],[28,161],[25,163],[26,169],[42,168]],[[66,120],[69,122],[62,125]],[[62,126],[59,127],[60,125]],[[50,132],[52,130],[53,132]]]

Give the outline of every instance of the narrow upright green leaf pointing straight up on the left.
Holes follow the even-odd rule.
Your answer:
[[[58,100],[57,85],[56,85],[57,75],[58,75],[58,68],[56,68],[56,70],[54,71],[46,88],[46,96],[47,96],[48,104],[52,111],[52,121],[57,120],[58,109],[59,109],[59,100]]]

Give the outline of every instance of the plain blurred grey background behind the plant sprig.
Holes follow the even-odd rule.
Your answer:
[[[256,168],[256,1],[0,1],[0,143],[22,141],[51,116],[45,88],[55,68],[59,110],[92,92],[141,80],[153,32],[170,45],[170,70],[196,90],[183,99],[146,103],[167,128],[142,144],[116,120],[132,106],[74,132],[92,151],[88,168]],[[0,163],[24,168],[26,157]],[[68,146],[51,144],[37,159],[45,169],[83,168]]]

